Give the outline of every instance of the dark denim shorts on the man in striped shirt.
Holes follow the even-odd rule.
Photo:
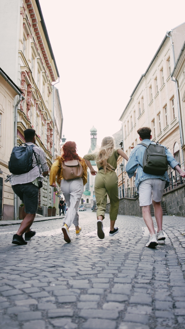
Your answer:
[[[36,214],[39,203],[39,188],[33,183],[12,185],[13,192],[24,203],[24,211],[26,214]]]

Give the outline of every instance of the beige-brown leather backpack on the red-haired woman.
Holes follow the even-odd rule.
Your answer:
[[[66,181],[83,176],[84,169],[79,160],[71,160],[62,162],[62,176]]]

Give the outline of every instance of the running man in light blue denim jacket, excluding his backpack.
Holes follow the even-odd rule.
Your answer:
[[[137,133],[139,134],[139,139],[145,144],[149,145],[151,142],[151,129],[143,127],[138,129]],[[165,153],[167,155],[168,164],[175,170],[177,170],[181,177],[185,177],[185,172],[183,172],[179,166],[179,163],[175,161],[170,151],[164,146]],[[165,188],[169,186],[169,177],[167,171],[164,175],[151,175],[146,174],[143,169],[143,156],[145,153],[146,147],[138,144],[132,152],[126,164],[126,172],[128,177],[131,178],[136,173],[135,184],[139,190],[139,202],[142,207],[143,218],[147,228],[150,232],[150,239],[146,243],[146,247],[155,247],[158,245],[157,240],[165,240],[163,230],[162,230],[162,221],[163,221],[163,211],[161,208],[161,198]],[[152,203],[155,211],[155,219],[157,222],[157,232],[155,233],[153,220],[150,214],[150,204]]]

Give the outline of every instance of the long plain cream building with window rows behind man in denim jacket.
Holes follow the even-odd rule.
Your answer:
[[[152,140],[169,148],[175,159],[183,162],[179,133],[179,105],[172,70],[184,43],[185,23],[168,32],[151,60],[119,120],[123,125],[124,152],[130,152],[140,140],[137,130],[150,127]],[[125,174],[125,188],[134,186],[134,178]]]

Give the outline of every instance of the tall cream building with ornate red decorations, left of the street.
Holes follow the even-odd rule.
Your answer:
[[[52,85],[59,72],[40,4],[38,0],[10,0],[7,10],[3,1],[1,14],[0,41],[6,51],[0,52],[0,63],[25,98],[17,111],[17,144],[24,142],[25,129],[35,129],[36,144],[44,150],[51,168],[60,153],[63,116],[58,89]],[[39,191],[43,215],[53,203],[54,191],[45,177]]]

